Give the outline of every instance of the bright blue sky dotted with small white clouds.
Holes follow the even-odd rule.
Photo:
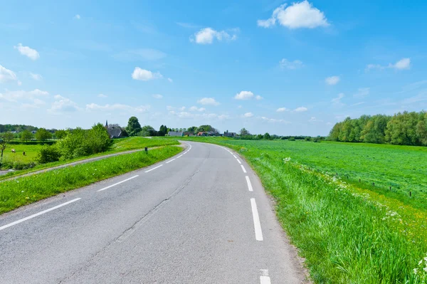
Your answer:
[[[0,123],[327,135],[427,109],[426,1],[5,1]]]

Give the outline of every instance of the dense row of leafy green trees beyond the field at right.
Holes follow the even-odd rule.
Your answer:
[[[329,140],[427,146],[427,112],[347,117],[332,127]]]

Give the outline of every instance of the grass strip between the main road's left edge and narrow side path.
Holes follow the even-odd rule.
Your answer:
[[[148,154],[145,152],[123,154],[1,182],[0,214],[65,191],[147,167],[172,157],[182,150],[181,147],[165,146],[152,149]]]

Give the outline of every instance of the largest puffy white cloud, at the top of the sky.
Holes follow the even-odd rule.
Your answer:
[[[273,11],[273,15],[267,20],[258,20],[258,26],[270,28],[278,22],[287,28],[317,28],[318,26],[330,26],[325,14],[315,8],[307,0],[293,3],[286,7],[283,4]]]

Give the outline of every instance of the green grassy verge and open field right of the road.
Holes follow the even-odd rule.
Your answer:
[[[426,283],[426,148],[190,139],[247,159],[315,283]]]

